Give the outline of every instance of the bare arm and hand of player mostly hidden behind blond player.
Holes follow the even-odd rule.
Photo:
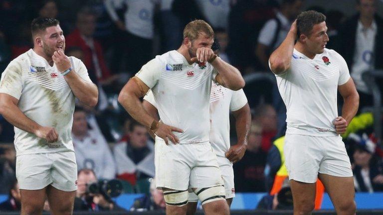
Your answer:
[[[235,163],[242,159],[247,145],[247,137],[251,126],[251,114],[249,104],[246,103],[242,108],[233,111],[235,117],[235,129],[238,141],[236,145],[230,147],[225,156],[231,162]]]

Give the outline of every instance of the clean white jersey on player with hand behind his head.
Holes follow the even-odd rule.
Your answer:
[[[337,135],[333,121],[338,116],[338,86],[350,79],[340,54],[325,49],[310,59],[294,49],[290,68],[276,79],[287,108],[286,133]]]

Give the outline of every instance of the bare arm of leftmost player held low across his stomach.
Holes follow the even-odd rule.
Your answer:
[[[12,96],[4,93],[0,93],[0,114],[11,123],[13,126],[24,130],[29,133],[33,133],[40,138],[46,139],[48,142],[57,141],[58,134],[54,128],[43,127],[37,124],[32,119],[28,118],[17,107],[18,100]]]

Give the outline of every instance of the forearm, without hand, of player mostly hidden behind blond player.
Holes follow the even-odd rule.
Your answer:
[[[237,132],[238,144],[247,145],[247,137],[251,127],[250,107],[246,104],[244,107],[233,112],[235,117],[235,129]]]

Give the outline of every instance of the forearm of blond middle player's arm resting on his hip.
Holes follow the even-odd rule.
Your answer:
[[[118,102],[139,123],[148,128],[152,126],[153,120],[155,119],[148,114],[137,95],[125,92],[123,89],[118,97]]]

